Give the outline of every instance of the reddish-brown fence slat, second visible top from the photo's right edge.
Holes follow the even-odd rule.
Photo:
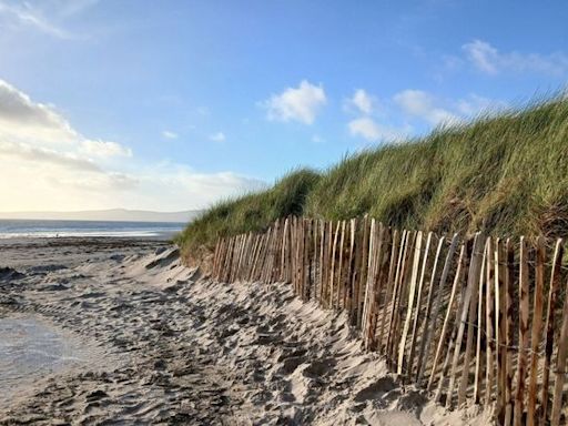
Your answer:
[[[535,426],[538,423],[536,416],[537,405],[537,378],[538,378],[538,348],[542,333],[542,292],[545,287],[545,239],[537,240],[535,293],[532,303],[532,329],[530,333],[530,381],[528,385],[527,425]]]

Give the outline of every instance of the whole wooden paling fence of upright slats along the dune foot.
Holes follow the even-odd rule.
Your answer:
[[[345,310],[368,351],[448,408],[501,425],[566,423],[568,282],[562,240],[438,236],[374,219],[291,216],[221,239],[212,277],[291,283]]]

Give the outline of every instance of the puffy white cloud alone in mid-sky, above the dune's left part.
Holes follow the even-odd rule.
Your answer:
[[[287,88],[262,104],[267,110],[268,120],[284,122],[295,120],[312,124],[326,103],[327,98],[323,87],[303,80],[297,88]]]

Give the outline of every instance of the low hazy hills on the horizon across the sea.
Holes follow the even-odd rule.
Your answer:
[[[111,222],[190,222],[200,210],[183,212],[151,212],[144,210],[88,210],[82,212],[0,212],[0,219],[51,221],[111,221]]]

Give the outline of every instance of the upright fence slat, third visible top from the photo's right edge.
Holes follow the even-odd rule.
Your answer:
[[[517,388],[515,393],[514,425],[523,425],[525,410],[525,383],[527,375],[528,316],[529,316],[529,287],[528,287],[528,255],[525,237],[520,237],[519,258],[519,354],[517,363]]]

